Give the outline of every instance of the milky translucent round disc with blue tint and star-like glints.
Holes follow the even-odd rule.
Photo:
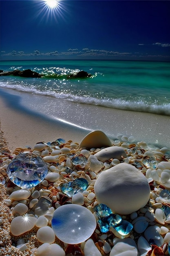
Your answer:
[[[62,242],[75,245],[91,237],[96,228],[96,219],[84,206],[65,204],[54,211],[51,227]]]

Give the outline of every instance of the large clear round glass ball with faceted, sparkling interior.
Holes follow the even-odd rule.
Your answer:
[[[40,184],[48,173],[44,160],[30,152],[20,153],[7,167],[9,179],[22,189],[31,189]]]

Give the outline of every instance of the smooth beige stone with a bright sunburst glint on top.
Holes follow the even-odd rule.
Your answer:
[[[33,229],[35,226],[37,218],[26,215],[26,216],[17,216],[11,221],[11,233],[13,236],[20,236],[25,232]]]

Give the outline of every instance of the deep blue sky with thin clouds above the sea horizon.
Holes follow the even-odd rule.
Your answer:
[[[1,60],[170,61],[170,1],[0,0]]]

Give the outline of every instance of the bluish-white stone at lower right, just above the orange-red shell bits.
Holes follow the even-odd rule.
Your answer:
[[[163,237],[160,234],[161,229],[158,226],[150,226],[148,227],[145,232],[144,236],[146,240],[149,242],[150,239],[154,240],[155,245],[162,246],[163,245]]]

